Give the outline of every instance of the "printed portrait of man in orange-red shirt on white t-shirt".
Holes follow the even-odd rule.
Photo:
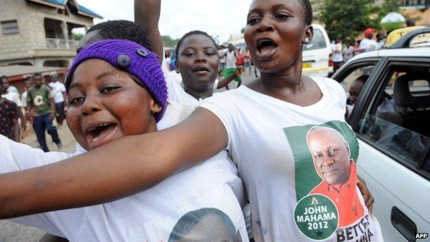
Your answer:
[[[349,144],[338,131],[314,126],[307,133],[307,145],[323,179],[309,194],[323,194],[335,203],[340,228],[354,223],[365,211],[356,192],[357,168]]]

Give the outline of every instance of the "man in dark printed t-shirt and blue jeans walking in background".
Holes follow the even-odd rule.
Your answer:
[[[27,108],[34,109],[34,131],[36,132],[37,141],[41,145],[44,152],[49,152],[46,145],[45,130],[52,137],[52,141],[57,144],[60,149],[61,141],[57,132],[57,128],[52,125],[52,120],[55,117],[55,105],[52,98],[52,92],[48,86],[43,85],[43,77],[41,74],[34,74],[34,86],[28,90]],[[31,117],[28,117],[30,119]]]

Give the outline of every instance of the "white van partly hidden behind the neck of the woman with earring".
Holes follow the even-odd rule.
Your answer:
[[[308,76],[327,77],[333,72],[331,61],[331,43],[323,26],[312,24],[314,38],[311,43],[303,45],[303,74]]]

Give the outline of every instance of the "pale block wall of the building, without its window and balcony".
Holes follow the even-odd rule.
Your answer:
[[[43,59],[45,56],[52,58],[52,54],[65,57],[61,59],[74,57],[74,50],[52,50],[47,48],[45,40],[45,18],[79,26],[89,27],[93,24],[92,18],[68,13],[68,15],[59,14],[57,8],[25,0],[0,0],[0,21],[17,20],[19,29],[19,34],[3,35],[0,32],[0,65],[17,62],[43,63],[43,60],[37,59]],[[25,59],[28,61],[22,61]]]

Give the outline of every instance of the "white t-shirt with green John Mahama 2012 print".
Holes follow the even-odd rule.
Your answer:
[[[345,91],[332,79],[314,77],[314,81],[323,97],[306,107],[246,86],[214,94],[201,104],[227,130],[226,148],[238,166],[251,204],[254,239],[382,241],[378,221],[369,214],[355,184],[358,145],[344,119]],[[349,173],[354,174],[347,173],[350,179],[338,189],[354,194],[351,201],[336,201],[342,196],[330,196],[317,189],[327,190],[327,186],[317,173],[307,145],[307,133],[314,126],[340,133],[351,147],[344,162],[349,164]],[[346,209],[342,207],[345,204]],[[340,227],[339,221],[344,221],[345,216],[354,219],[347,219],[348,224]]]

